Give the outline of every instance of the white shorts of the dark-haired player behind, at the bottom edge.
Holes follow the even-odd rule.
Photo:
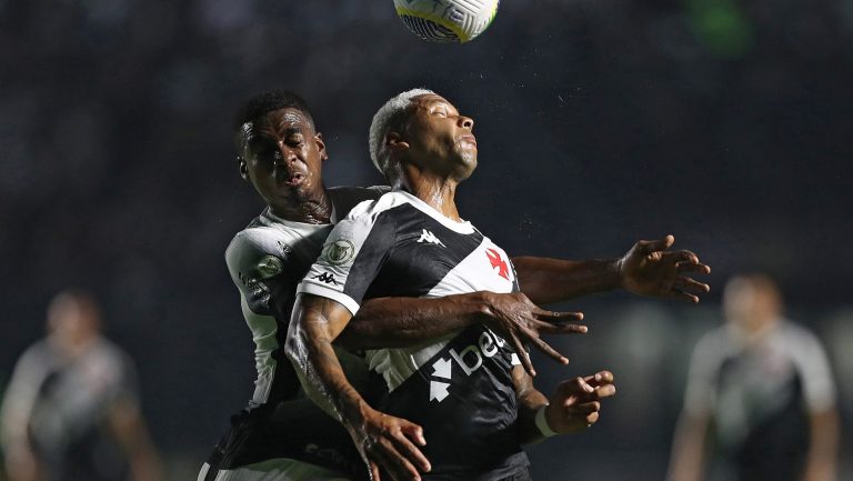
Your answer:
[[[210,464],[204,463],[198,481],[204,481],[208,471],[210,471]],[[328,468],[279,458],[232,470],[219,470],[213,481],[352,481],[352,479]]]

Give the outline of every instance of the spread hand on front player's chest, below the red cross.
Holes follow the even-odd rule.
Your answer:
[[[521,364],[530,375],[536,375],[536,371],[530,361],[530,354],[524,349],[525,343],[533,344],[556,362],[568,364],[569,359],[543,341],[540,334],[582,334],[586,332],[585,325],[566,323],[566,321],[583,319],[581,312],[545,311],[521,292],[486,292],[485,295],[486,319],[483,323],[512,343],[513,349],[519,353]]]

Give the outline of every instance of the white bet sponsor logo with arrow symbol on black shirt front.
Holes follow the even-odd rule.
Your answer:
[[[459,352],[455,349],[451,349],[450,359],[439,358],[438,361],[432,363],[432,374],[430,377],[433,379],[430,379],[430,401],[441,402],[450,395],[448,388],[450,388],[450,380],[453,378],[454,361],[462,369],[462,372],[465,373],[465,377],[469,377],[482,368],[483,358],[493,358],[498,354],[499,349],[504,345],[506,345],[506,341],[486,329],[480,334],[476,344],[468,345]],[[514,359],[511,362],[514,364]]]

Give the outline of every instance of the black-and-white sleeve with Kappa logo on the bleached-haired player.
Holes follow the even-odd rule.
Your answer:
[[[355,315],[395,243],[393,220],[374,206],[360,204],[334,227],[298,292],[335,300]]]

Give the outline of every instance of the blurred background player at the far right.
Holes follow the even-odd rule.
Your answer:
[[[669,481],[833,481],[839,421],[821,343],[783,318],[763,274],[733,278],[723,311],[693,353]]]

